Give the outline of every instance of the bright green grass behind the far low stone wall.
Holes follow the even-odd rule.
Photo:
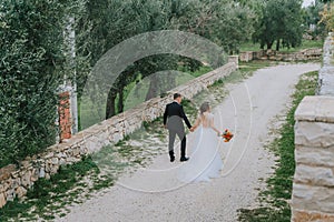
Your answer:
[[[281,52],[297,52],[303,49],[310,49],[310,48],[323,48],[324,41],[323,40],[303,40],[302,44],[296,48],[281,48]],[[276,49],[276,44],[273,46],[273,49]],[[259,43],[253,43],[253,42],[245,42],[240,46],[240,51],[259,51]]]

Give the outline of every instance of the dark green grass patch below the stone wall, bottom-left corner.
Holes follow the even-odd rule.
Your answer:
[[[91,190],[98,191],[114,184],[114,179],[99,175],[99,169],[90,157],[78,163],[61,167],[49,180],[38,180],[24,199],[9,201],[0,209],[1,221],[52,220],[55,212],[65,215],[65,205],[80,203],[80,193],[88,188],[81,180],[92,181]]]

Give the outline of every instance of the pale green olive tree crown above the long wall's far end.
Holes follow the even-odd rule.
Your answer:
[[[198,2],[198,6],[200,12],[188,18],[186,30],[214,41],[229,54],[238,52],[240,42],[249,40],[255,32],[257,17],[249,2],[207,0]]]

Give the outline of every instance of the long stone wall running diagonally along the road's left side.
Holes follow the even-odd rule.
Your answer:
[[[124,139],[125,135],[139,129],[144,121],[153,121],[160,117],[165,105],[171,101],[173,93],[180,92],[190,99],[216,80],[229,75],[237,67],[238,58],[229,57],[227,64],[175,88],[167,92],[165,98],[154,98],[95,124],[63,143],[48,148],[43,153],[27,158],[19,168],[11,164],[0,169],[0,208],[16,196],[26,195],[27,190],[39,178],[49,179],[51,174],[57,173],[60,165],[78,162],[82,157]]]

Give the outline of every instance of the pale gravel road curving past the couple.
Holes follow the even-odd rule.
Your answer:
[[[220,178],[183,184],[176,179],[181,163],[159,155],[57,221],[237,221],[238,209],[257,204],[258,189],[265,185],[259,179],[273,173],[274,157],[264,149],[268,130],[284,114],[298,77],[318,69],[312,63],[277,65],[228,85],[228,97],[214,110],[217,127],[235,133],[232,142],[219,145]]]

